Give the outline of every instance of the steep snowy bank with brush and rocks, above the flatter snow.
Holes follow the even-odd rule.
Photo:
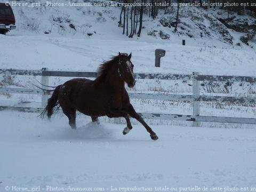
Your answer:
[[[20,1],[25,3],[26,1]],[[97,1],[105,6],[70,6],[68,3],[84,3],[83,1],[63,1],[66,6],[49,6],[41,1],[40,6],[13,6],[18,31],[21,33],[58,34],[75,37],[108,37],[124,38],[122,28],[118,29],[121,8],[110,6],[110,1]],[[87,1],[87,3],[94,1]],[[27,3],[27,2],[26,2]],[[58,4],[57,4],[58,5]],[[146,7],[148,8],[148,7]],[[256,20],[249,15],[238,15],[220,9],[205,10],[193,6],[181,7],[178,30],[174,33],[177,7],[171,6],[166,11],[160,10],[157,18],[143,16],[143,30],[140,39],[154,38],[172,41],[182,38],[212,39],[231,45],[244,44],[241,37],[255,35]],[[49,36],[49,35],[48,35]],[[136,37],[134,37],[136,38]],[[253,46],[255,38],[249,42]],[[249,45],[248,44],[248,45]]]

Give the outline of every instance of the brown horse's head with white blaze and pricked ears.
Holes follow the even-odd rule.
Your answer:
[[[118,73],[129,87],[133,87],[136,83],[133,75],[133,64],[131,62],[132,53],[130,55],[119,52]]]

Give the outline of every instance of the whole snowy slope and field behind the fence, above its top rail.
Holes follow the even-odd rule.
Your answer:
[[[254,43],[245,45],[240,40],[245,31],[238,33],[218,20],[227,17],[225,11],[181,7],[178,31],[174,33],[176,8],[159,13],[155,20],[145,14],[141,37],[128,38],[118,28],[120,7],[13,6],[17,30],[0,35],[4,47],[0,54],[5,55],[1,67],[95,71],[102,60],[120,51],[133,53],[135,71],[255,74]],[[230,17],[236,22],[246,20],[249,27],[255,24],[249,15],[230,13]],[[159,34],[169,38],[162,39]],[[182,39],[187,46],[181,46]],[[167,51],[159,69],[154,67],[157,48]]]

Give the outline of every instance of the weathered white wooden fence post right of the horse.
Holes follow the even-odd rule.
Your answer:
[[[199,75],[198,72],[193,72],[193,77]],[[200,95],[200,82],[193,78],[193,95],[194,97],[199,97]],[[198,116],[200,114],[200,102],[193,101],[193,115]],[[194,121],[193,126],[200,126],[200,122]]]

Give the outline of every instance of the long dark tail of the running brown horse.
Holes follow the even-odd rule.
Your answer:
[[[58,105],[60,87],[61,85],[55,88],[55,90],[52,93],[52,97],[48,99],[47,106],[44,108],[44,111],[41,115],[44,115],[47,112],[48,118],[51,118],[53,114],[53,108]]]

